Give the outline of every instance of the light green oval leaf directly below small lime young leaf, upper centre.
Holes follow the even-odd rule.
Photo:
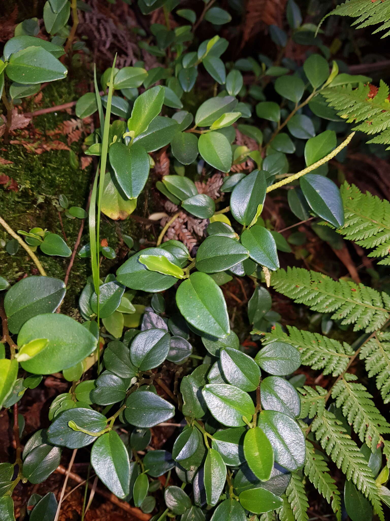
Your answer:
[[[198,148],[206,163],[223,172],[230,170],[232,152],[230,143],[224,134],[217,131],[201,134]]]

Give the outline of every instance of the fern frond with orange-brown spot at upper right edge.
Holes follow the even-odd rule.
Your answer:
[[[354,130],[380,134],[368,143],[390,143],[389,88],[384,81],[380,81],[378,92],[373,92],[370,84],[359,83],[356,88],[353,84],[328,87],[321,94],[347,123],[359,123]]]

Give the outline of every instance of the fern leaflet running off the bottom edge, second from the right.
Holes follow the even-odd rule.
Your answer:
[[[324,457],[319,451],[315,450],[308,440],[306,440],[306,458],[303,472],[331,505],[337,521],[341,521],[340,492],[337,490],[334,479],[329,474],[329,467]]]

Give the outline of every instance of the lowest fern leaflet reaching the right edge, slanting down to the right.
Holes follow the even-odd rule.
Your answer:
[[[336,400],[336,407],[341,408],[360,441],[365,442],[372,452],[383,443],[388,453],[390,445],[382,435],[390,432],[390,424],[375,407],[365,386],[355,380],[356,375],[346,373],[335,383],[332,398]]]

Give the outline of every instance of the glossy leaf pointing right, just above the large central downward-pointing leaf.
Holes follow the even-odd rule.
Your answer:
[[[205,273],[215,273],[225,271],[246,258],[248,258],[248,250],[235,239],[212,235],[199,246],[196,268]]]

